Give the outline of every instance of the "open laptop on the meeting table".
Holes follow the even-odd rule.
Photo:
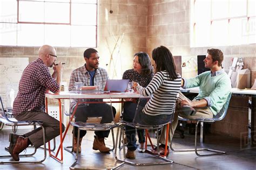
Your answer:
[[[110,92],[125,92],[129,81],[130,80],[128,80],[128,79],[107,80],[104,90],[110,91]]]

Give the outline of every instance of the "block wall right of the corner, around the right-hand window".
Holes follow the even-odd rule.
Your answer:
[[[173,55],[181,55],[183,62],[197,55],[204,55],[210,47],[190,48],[190,0],[149,0],[147,2],[147,53],[151,55],[153,48],[164,45]],[[220,46],[224,52],[225,70],[231,65],[233,57],[245,57],[245,68],[251,70],[251,84],[256,77],[255,45]],[[192,70],[192,71],[191,71]],[[195,75],[196,69],[189,69],[183,76]],[[184,73],[185,72],[185,73]],[[212,125],[213,133],[240,137],[247,132],[248,98],[232,97],[230,108],[224,121]],[[255,108],[254,108],[255,109]]]

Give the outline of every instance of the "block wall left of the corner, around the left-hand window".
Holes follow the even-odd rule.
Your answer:
[[[98,47],[96,49],[100,55],[100,67],[106,68],[111,78],[120,79],[126,69],[132,68],[133,54],[146,51],[147,0],[112,0],[112,14],[109,12],[110,2],[110,0],[100,0],[98,4]],[[123,33],[123,41],[120,44]],[[118,47],[113,51],[116,43],[114,37],[116,40],[119,39],[119,55]],[[28,57],[31,62],[37,58],[38,49],[38,47],[0,46],[0,57]],[[85,49],[86,47],[56,48],[58,60],[66,63],[64,82],[69,83],[71,71],[84,64]],[[111,54],[114,63],[110,64]]]

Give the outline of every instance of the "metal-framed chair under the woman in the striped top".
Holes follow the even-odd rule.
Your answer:
[[[150,139],[148,130],[157,130],[158,131],[158,130],[162,129],[165,125],[167,125],[167,132],[166,132],[166,142],[167,142],[167,139],[168,139],[168,136],[169,136],[169,125],[173,121],[173,115],[174,114],[172,113],[171,118],[169,120],[166,120],[166,122],[164,124],[160,124],[160,125],[142,125],[142,124],[139,124],[139,123],[136,122],[136,116],[138,114],[138,110],[140,110],[139,108],[143,108],[145,106],[146,101],[147,101],[147,98],[143,98],[143,97],[139,98],[138,105],[137,105],[137,110],[136,110],[136,113],[135,113],[135,116],[134,116],[132,122],[126,122],[126,121],[122,120],[122,121],[120,121],[120,123],[122,124],[122,127],[123,127],[122,128],[123,141],[124,141],[124,126],[125,125],[132,126],[134,128],[138,128],[138,129],[145,129],[145,131],[146,131],[145,132],[145,135],[146,135],[146,142],[145,142],[146,146],[145,146],[145,148],[146,148],[146,153],[147,153],[147,151],[149,151],[149,150],[147,150],[147,138],[149,138],[149,140],[150,140],[150,144],[151,144],[152,149],[154,147],[154,145],[152,144],[152,141]],[[174,108],[175,108],[175,106],[174,106]],[[117,146],[116,146],[116,149],[117,149]],[[123,146],[123,150],[125,150],[124,146]],[[158,137],[158,133],[157,133],[157,152],[158,152],[158,154],[154,155],[154,157],[156,157],[158,159],[161,159],[161,160],[164,160],[164,162],[136,163],[136,162],[132,162],[132,161],[126,160],[125,155],[124,155],[124,160],[122,160],[120,158],[116,158],[116,159],[118,161],[123,161],[126,164],[133,165],[133,166],[163,165],[163,164],[172,164],[174,162],[173,160],[170,160],[170,159],[166,158],[167,145],[165,147],[164,155],[160,155],[159,154],[159,137]]]

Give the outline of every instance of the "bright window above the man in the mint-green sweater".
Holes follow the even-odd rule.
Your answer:
[[[191,1],[191,47],[256,43],[255,0]]]

